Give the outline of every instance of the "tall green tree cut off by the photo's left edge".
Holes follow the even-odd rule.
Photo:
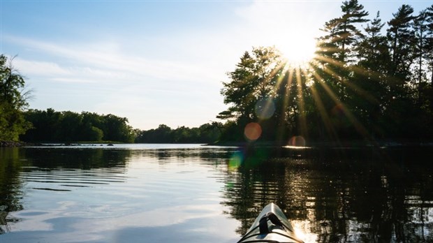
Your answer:
[[[0,140],[17,141],[30,128],[22,110],[27,107],[28,92],[24,92],[24,78],[8,59],[0,55]]]

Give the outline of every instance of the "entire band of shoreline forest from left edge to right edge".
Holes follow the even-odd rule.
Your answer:
[[[244,52],[221,95],[228,109],[198,128],[140,131],[128,119],[90,112],[27,110],[24,79],[0,56],[0,140],[28,142],[242,142],[433,138],[433,5],[403,4],[392,19],[344,1],[325,22],[309,64],[275,47]],[[295,38],[295,37],[293,37]]]

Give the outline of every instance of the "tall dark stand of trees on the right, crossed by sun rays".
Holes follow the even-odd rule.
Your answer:
[[[433,5],[404,4],[388,22],[356,0],[341,8],[306,66],[273,47],[242,55],[221,90],[230,105],[218,116],[229,121],[222,140],[433,138]]]

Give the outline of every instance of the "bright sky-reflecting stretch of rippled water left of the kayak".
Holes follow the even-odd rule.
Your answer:
[[[0,242],[235,241],[230,149],[167,147],[0,148]]]

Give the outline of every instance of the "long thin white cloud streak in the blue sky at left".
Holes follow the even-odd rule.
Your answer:
[[[155,78],[158,80],[182,80],[186,82],[203,82],[214,76],[214,71],[203,65],[189,64],[187,62],[146,59],[143,57],[126,56],[113,50],[94,50],[93,45],[59,45],[40,40],[8,36],[6,40],[20,43],[24,47],[36,49],[45,54],[61,58],[63,65],[29,61],[21,59],[26,71],[38,75],[71,75],[71,69],[76,71],[75,75],[89,75],[90,78],[117,78],[142,80],[142,78]],[[112,45],[100,45],[112,46]],[[109,48],[108,48],[109,49]],[[41,69],[38,69],[41,67]],[[45,71],[43,72],[43,68]],[[43,72],[43,73],[42,73]]]

